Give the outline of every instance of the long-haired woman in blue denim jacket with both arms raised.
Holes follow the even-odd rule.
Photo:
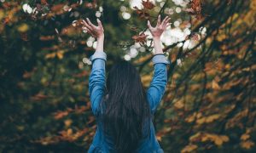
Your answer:
[[[113,65],[105,88],[107,55],[103,51],[103,26],[98,19],[98,26],[88,18],[83,20],[87,32],[97,39],[96,52],[90,57],[89,78],[90,102],[97,129],[88,152],[163,152],[155,137],[152,118],[166,89],[169,61],[163,54],[160,36],[170,26],[169,20],[166,17],[161,22],[159,15],[155,27],[148,21],[154,39],[154,77],[147,92],[136,68],[124,60]]]

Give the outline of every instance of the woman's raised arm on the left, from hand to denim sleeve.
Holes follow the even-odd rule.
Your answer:
[[[83,20],[84,28],[92,37],[96,37],[96,52],[90,56],[92,69],[89,77],[90,105],[94,115],[98,114],[98,106],[105,92],[105,62],[107,55],[103,51],[104,29],[97,19],[98,26],[93,25],[88,18]]]

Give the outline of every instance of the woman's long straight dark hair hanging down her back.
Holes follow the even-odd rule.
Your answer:
[[[104,133],[113,138],[120,153],[134,152],[149,134],[150,110],[141,77],[131,63],[122,60],[108,73],[107,92],[102,100]],[[102,105],[101,104],[101,105]]]

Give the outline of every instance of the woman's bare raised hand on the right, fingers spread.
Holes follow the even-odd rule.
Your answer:
[[[166,27],[171,25],[171,23],[169,23],[170,20],[171,18],[166,16],[166,18],[162,20],[162,22],[160,22],[160,15],[159,15],[157,19],[157,24],[155,27],[152,27],[148,20],[148,29],[151,32],[152,36],[154,38],[160,38],[162,33],[166,30]]]

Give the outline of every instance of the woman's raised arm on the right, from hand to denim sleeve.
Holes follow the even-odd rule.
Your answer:
[[[148,21],[148,29],[153,36],[154,41],[154,57],[152,59],[154,64],[154,75],[147,91],[147,98],[150,105],[151,112],[154,114],[163,94],[166,90],[167,84],[167,71],[166,65],[169,61],[164,56],[163,50],[161,48],[160,36],[163,31],[166,30],[167,26],[170,26],[169,17],[166,17],[162,22],[160,22],[160,15],[157,20],[157,25],[152,27]]]

